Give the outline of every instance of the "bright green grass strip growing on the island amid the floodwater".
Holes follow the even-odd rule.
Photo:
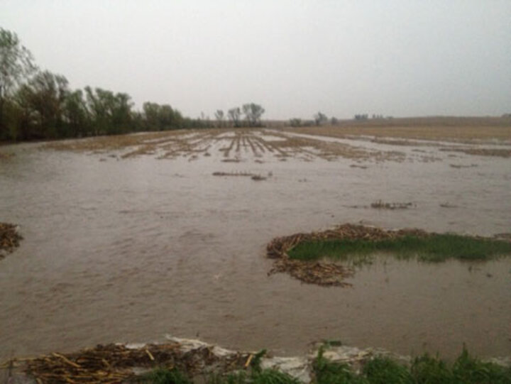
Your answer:
[[[402,236],[385,240],[327,239],[302,241],[287,251],[297,260],[364,260],[375,253],[389,253],[398,258],[414,258],[424,261],[485,260],[495,256],[511,255],[511,242],[493,238],[478,238],[456,234],[432,234],[429,236]]]

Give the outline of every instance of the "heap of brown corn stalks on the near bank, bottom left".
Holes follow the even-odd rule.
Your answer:
[[[23,371],[38,384],[49,383],[125,383],[136,378],[138,371],[156,367],[178,368],[199,374],[208,371],[231,371],[246,366],[249,353],[218,356],[213,346],[183,351],[179,343],[147,344],[128,348],[121,344],[98,345],[75,353],[52,353],[27,359]]]

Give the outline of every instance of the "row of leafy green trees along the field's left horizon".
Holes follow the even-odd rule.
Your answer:
[[[113,135],[136,131],[207,128],[209,119],[191,119],[169,104],[145,102],[99,87],[70,89],[62,75],[40,70],[18,35],[0,28],[0,140],[23,141]],[[244,119],[242,119],[242,113]],[[258,104],[229,109],[229,126],[261,126]],[[216,111],[224,123],[224,112]]]

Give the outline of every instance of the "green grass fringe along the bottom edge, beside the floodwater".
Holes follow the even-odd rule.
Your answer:
[[[404,366],[388,357],[375,357],[363,364],[359,372],[347,363],[336,363],[324,358],[320,349],[313,363],[314,384],[509,384],[511,367],[485,363],[470,356],[466,349],[453,364],[438,357],[423,355],[415,358],[410,366]],[[148,384],[192,384],[185,373],[175,369],[158,368],[135,380]],[[261,369],[252,364],[249,371],[211,374],[204,380],[207,384],[298,384],[287,373],[273,369]]]

